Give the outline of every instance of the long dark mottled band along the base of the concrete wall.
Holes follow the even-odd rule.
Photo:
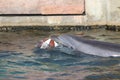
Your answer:
[[[83,31],[92,29],[108,29],[106,25],[95,26],[1,26],[0,32],[22,31],[22,30],[41,30],[41,31]]]

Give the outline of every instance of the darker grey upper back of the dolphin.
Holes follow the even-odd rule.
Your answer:
[[[101,41],[96,41],[96,40],[87,40],[87,39],[83,39],[83,38],[80,38],[78,36],[73,36],[73,35],[69,35],[69,36],[71,36],[72,38],[74,38],[77,41],[81,41],[82,43],[92,45],[94,47],[98,47],[98,48],[106,49],[106,50],[110,50],[110,51],[120,52],[120,44],[101,42]]]

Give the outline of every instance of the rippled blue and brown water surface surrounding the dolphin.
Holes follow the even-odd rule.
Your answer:
[[[79,31],[64,32],[80,34]],[[83,31],[84,37],[120,43],[120,32]],[[120,58],[77,54],[66,48],[41,50],[34,45],[42,38],[63,32],[0,33],[0,80],[119,80]],[[10,39],[9,36],[13,35]],[[23,36],[24,35],[24,36]]]

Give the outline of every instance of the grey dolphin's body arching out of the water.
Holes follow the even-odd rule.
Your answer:
[[[120,44],[88,40],[79,36],[68,34],[52,38],[56,42],[86,54],[101,57],[120,57]]]

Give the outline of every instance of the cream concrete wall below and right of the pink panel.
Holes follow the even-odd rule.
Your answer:
[[[120,0],[85,0],[85,15],[0,16],[0,26],[120,25]]]

